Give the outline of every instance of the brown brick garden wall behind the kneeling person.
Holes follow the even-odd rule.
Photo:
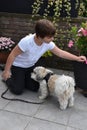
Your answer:
[[[6,13],[0,12],[0,37],[11,37],[16,43],[29,33],[34,33],[34,25],[37,19],[31,20],[31,15],[29,14],[15,14],[15,13]],[[80,24],[82,21],[86,21],[84,18],[72,18],[71,24]],[[68,24],[65,21],[60,19],[58,22],[58,27],[66,30],[68,28]],[[65,31],[64,31],[65,32]],[[67,34],[59,33],[58,34],[58,42],[61,35],[66,36],[64,40],[66,41]],[[68,50],[67,43],[65,44],[65,50]],[[70,50],[68,50],[70,51]],[[72,53],[74,50],[72,50]],[[65,69],[65,70],[73,70],[72,62],[64,59],[60,59],[56,56],[47,57],[44,59],[47,67]]]

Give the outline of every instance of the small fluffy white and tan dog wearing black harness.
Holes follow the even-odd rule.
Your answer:
[[[60,109],[74,105],[75,82],[74,79],[66,75],[56,75],[53,71],[42,66],[35,67],[31,73],[31,78],[40,84],[40,99],[45,99],[49,93],[57,96]]]

